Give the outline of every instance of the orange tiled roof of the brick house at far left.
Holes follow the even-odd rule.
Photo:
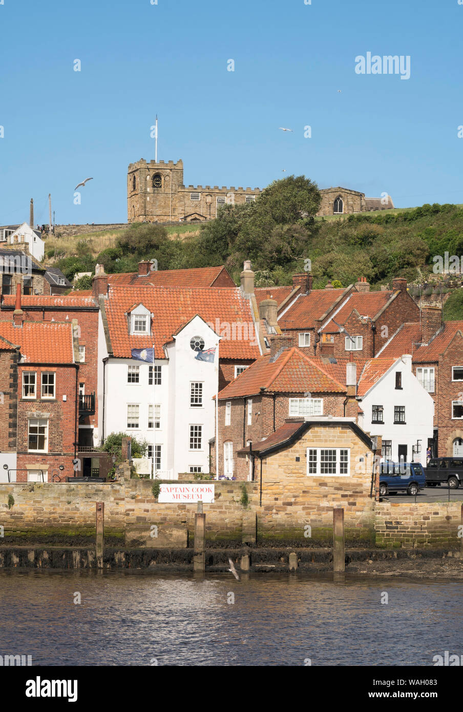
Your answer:
[[[25,321],[22,327],[16,327],[0,321],[0,336],[21,346],[25,363],[74,362],[71,324]]]

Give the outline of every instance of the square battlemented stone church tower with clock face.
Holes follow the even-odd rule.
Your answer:
[[[128,222],[177,221],[177,194],[183,186],[183,162],[140,159],[127,175]]]

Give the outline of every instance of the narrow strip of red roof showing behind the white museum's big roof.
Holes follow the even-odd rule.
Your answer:
[[[108,274],[108,282],[115,287],[123,285],[141,286],[165,286],[165,287],[212,287],[214,281],[222,273],[229,277],[230,288],[234,287],[234,281],[224,266],[219,267],[198,267],[192,269],[165,269],[150,271],[147,275],[139,275],[137,272],[124,272],[120,274]]]

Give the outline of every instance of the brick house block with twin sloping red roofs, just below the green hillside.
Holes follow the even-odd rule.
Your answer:
[[[370,292],[365,278],[345,289],[328,283],[323,290],[312,290],[308,275],[306,290],[279,313],[279,324],[284,333],[296,335],[298,346],[310,355],[342,358],[353,352],[371,358],[402,323],[419,316],[405,279],[396,278],[392,290],[377,292]]]

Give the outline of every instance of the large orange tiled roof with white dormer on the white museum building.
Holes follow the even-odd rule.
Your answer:
[[[128,333],[125,313],[139,304],[155,315],[153,334],[150,336]],[[172,340],[172,335],[196,315],[210,323],[216,333],[217,321],[221,325],[221,359],[256,359],[260,355],[251,304],[241,296],[237,287],[152,287],[148,290],[144,287],[110,286],[105,309],[113,354],[117,357],[130,358],[131,349],[150,347],[154,340],[155,357],[165,358],[162,345]]]

